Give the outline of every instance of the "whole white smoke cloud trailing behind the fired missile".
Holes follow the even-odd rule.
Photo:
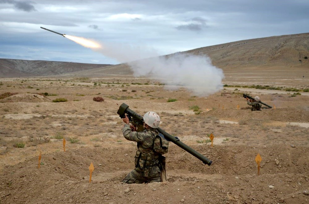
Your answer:
[[[209,96],[223,88],[222,69],[212,65],[205,55],[176,53],[158,57],[155,50],[126,45],[107,45],[94,49],[103,55],[128,63],[134,76],[147,76],[165,84],[165,88],[186,88],[195,96]],[[155,57],[154,57],[155,56]]]

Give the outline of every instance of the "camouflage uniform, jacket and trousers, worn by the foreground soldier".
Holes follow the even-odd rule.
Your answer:
[[[129,141],[138,143],[135,154],[135,169],[133,169],[123,180],[124,183],[151,183],[161,182],[160,158],[161,154],[153,151],[155,135],[159,132],[154,128],[135,132],[125,124],[122,129],[123,136]]]

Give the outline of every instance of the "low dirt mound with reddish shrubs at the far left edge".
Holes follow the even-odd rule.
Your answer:
[[[0,103],[8,103],[8,102],[29,102],[29,103],[36,103],[36,102],[48,102],[51,101],[50,99],[35,93],[20,93],[15,94],[9,97],[6,97],[0,100]]]

